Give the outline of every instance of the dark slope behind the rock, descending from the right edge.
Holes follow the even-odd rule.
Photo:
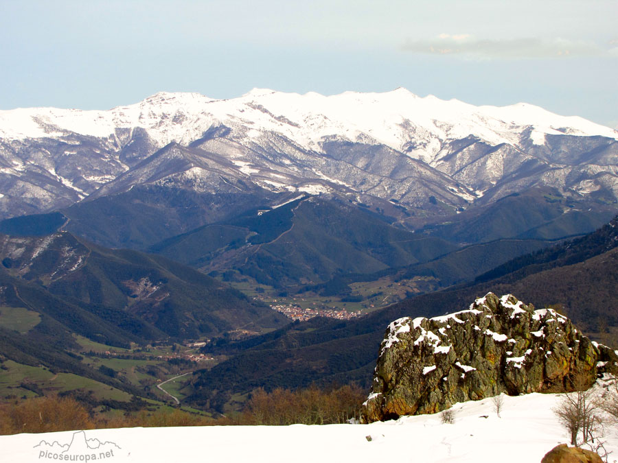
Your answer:
[[[216,399],[217,393],[212,392],[218,390],[218,394],[222,394],[224,388],[220,382],[225,381],[222,379],[224,372],[238,379],[233,384],[226,383],[231,385],[231,393],[249,392],[258,385],[273,385],[272,378],[283,377],[286,371],[290,372],[290,378],[294,378],[286,383],[290,387],[294,382],[296,385],[306,385],[311,381],[328,382],[334,379],[344,382],[356,380],[368,385],[382,333],[389,322],[402,316],[431,317],[465,309],[470,300],[490,290],[516,294],[534,302],[538,308],[549,304],[561,305],[573,322],[598,335],[599,321],[602,329],[618,326],[615,310],[618,294],[613,291],[618,283],[618,241],[613,238],[613,224],[615,221],[597,233],[558,246],[552,254],[556,265],[549,270],[530,270],[529,274],[523,272],[520,278],[508,278],[510,275],[507,275],[492,281],[424,294],[358,320],[310,320],[244,343],[213,346],[236,355],[194,379],[196,392],[193,399],[202,402],[213,399],[214,403],[225,403],[225,397]],[[591,254],[586,254],[585,249],[593,249],[591,254],[595,253],[594,250],[604,252],[589,257]],[[567,260],[569,254],[572,258]],[[264,374],[260,370],[243,368],[243,365],[250,364],[249,359],[257,355],[260,355]],[[334,372],[332,366],[339,359],[352,357],[354,361],[349,361],[347,366],[341,364],[343,369]],[[306,363],[306,370],[302,371],[298,365],[304,359],[310,361]]]

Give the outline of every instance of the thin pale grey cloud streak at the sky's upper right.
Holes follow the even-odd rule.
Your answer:
[[[475,38],[470,34],[439,34],[429,40],[408,40],[404,43],[403,49],[420,54],[455,55],[477,59],[618,57],[618,47],[602,48],[586,40]]]

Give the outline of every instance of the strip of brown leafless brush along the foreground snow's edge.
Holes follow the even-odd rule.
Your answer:
[[[96,413],[98,404],[80,396],[43,396],[0,405],[0,435],[119,427],[347,423],[360,418],[365,396],[355,385],[294,391],[277,388],[272,392],[260,388],[251,394],[242,412],[219,418],[179,408],[142,408],[110,416]]]

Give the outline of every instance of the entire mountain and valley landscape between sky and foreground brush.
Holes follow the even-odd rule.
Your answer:
[[[615,130],[404,89],[21,117],[0,115],[4,400],[215,420],[260,388],[368,388],[392,320],[490,290],[618,327],[592,283],[615,285]]]

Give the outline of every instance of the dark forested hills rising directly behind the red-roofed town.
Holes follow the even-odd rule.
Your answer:
[[[538,189],[513,195],[422,233],[393,227],[358,204],[305,198],[197,228],[150,251],[205,272],[236,270],[291,291],[332,278],[351,283],[385,275],[431,276],[437,287],[446,287],[554,241],[589,233],[615,215],[610,206],[583,211],[584,203],[559,194]]]

